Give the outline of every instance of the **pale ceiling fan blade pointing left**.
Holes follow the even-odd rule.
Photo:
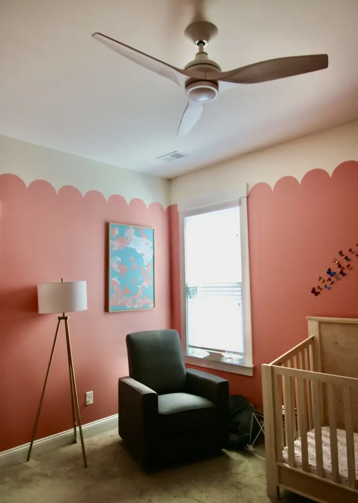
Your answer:
[[[169,78],[179,87],[184,87],[185,80],[189,77],[202,78],[202,73],[176,68],[164,61],[160,61],[160,59],[138,51],[129,45],[118,42],[118,40],[115,40],[114,38],[107,37],[102,33],[92,33],[92,37],[110,49],[113,49],[113,51],[122,54],[122,56],[130,59],[131,61],[134,61],[135,63],[144,66],[145,68],[148,68],[148,70],[152,70],[163,77]]]

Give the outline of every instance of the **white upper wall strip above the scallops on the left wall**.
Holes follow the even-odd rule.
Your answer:
[[[147,206],[158,202],[166,208],[169,204],[167,180],[6,136],[0,136],[0,174],[3,173],[18,175],[27,186],[34,180],[46,180],[56,191],[73,185],[82,195],[97,190],[106,199],[120,194],[128,203],[140,198]]]

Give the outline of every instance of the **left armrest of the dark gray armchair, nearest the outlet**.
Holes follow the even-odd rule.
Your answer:
[[[158,395],[131,377],[118,380],[118,432],[144,464],[157,456]]]

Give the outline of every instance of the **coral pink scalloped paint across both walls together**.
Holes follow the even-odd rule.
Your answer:
[[[318,276],[340,249],[358,242],[358,162],[340,164],[330,178],[313,170],[299,184],[257,184],[249,195],[249,235],[255,376],[211,371],[228,378],[230,392],[260,404],[260,365],[306,337],[305,316],[358,316],[358,258],[329,292],[314,297]],[[107,221],[155,228],[156,308],[104,311]],[[169,229],[171,239],[169,241]],[[88,310],[70,319],[83,423],[117,412],[117,379],[128,372],[129,331],[179,330],[179,219],[176,206],[146,207],[121,196],[108,201],[74,187],[58,194],[47,182],[29,188],[0,176],[0,451],[29,442],[56,326],[56,315],[37,313],[36,285],[85,279]],[[357,250],[358,253],[358,250]],[[94,404],[84,406],[85,391]],[[38,437],[71,428],[68,369],[61,337],[50,374]]]

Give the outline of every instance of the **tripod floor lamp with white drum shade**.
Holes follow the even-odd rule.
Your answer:
[[[72,421],[73,421],[73,441],[77,443],[77,423],[76,414],[79,428],[79,435],[81,439],[82,456],[84,467],[87,468],[86,452],[84,450],[84,442],[82,435],[81,417],[79,413],[77,388],[75,381],[75,374],[73,370],[73,360],[70,342],[70,333],[68,329],[68,319],[66,316],[67,312],[75,311],[85,311],[87,309],[87,284],[85,281],[63,281],[61,283],[44,283],[37,286],[37,298],[39,304],[40,314],[50,314],[50,313],[62,313],[62,316],[58,316],[57,328],[55,332],[55,339],[53,341],[50,361],[47,367],[46,377],[44,386],[42,388],[41,398],[39,408],[37,410],[36,420],[34,429],[32,432],[32,438],[29,448],[29,453],[27,456],[27,461],[29,461],[31,456],[32,446],[36,436],[37,425],[39,422],[42,402],[45,395],[47,379],[50,373],[51,363],[53,353],[55,351],[57,335],[60,328],[61,321],[65,324],[65,334],[66,334],[66,345],[67,345],[67,358],[68,358],[68,369],[70,374],[70,389],[71,389],[71,405],[72,405]]]

